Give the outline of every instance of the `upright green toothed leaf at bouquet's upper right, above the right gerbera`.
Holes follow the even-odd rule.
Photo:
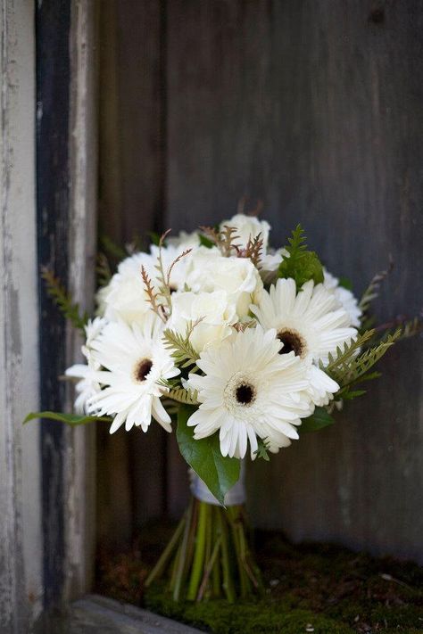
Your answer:
[[[297,291],[308,280],[313,280],[314,284],[323,282],[323,267],[317,253],[307,251],[303,227],[296,226],[292,238],[289,238],[289,246],[286,247],[289,255],[284,256],[279,265],[279,277],[292,277],[295,280]]]

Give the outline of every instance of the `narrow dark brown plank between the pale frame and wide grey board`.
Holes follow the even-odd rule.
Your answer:
[[[101,4],[100,232],[122,245],[162,230],[162,20],[156,0]],[[165,442],[158,425],[99,432],[100,548],[125,547],[137,526],[162,515]]]

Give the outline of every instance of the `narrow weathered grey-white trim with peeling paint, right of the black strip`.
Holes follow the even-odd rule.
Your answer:
[[[69,288],[81,307],[91,309],[95,282],[96,143],[95,2],[71,5],[70,238]],[[80,358],[79,335],[68,329],[69,364]],[[68,403],[71,410],[72,404]],[[65,598],[91,589],[95,556],[95,428],[66,431]]]

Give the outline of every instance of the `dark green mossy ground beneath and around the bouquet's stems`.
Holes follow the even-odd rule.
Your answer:
[[[103,554],[98,590],[217,634],[423,633],[423,568],[416,564],[322,544],[294,546],[278,533],[262,532],[256,555],[264,597],[234,605],[176,604],[160,584],[144,590],[169,536],[169,526],[155,525],[130,552]]]

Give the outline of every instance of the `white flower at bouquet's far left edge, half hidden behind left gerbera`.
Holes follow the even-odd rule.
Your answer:
[[[95,338],[102,332],[105,325],[106,321],[102,317],[95,317],[94,320],[90,319],[88,321],[85,326],[87,340],[81,348],[82,354],[87,359],[87,365],[77,363],[74,366],[68,367],[65,372],[66,376],[79,379],[79,382],[75,385],[77,398],[75,399],[74,407],[77,414],[87,414],[88,399],[100,391],[100,384],[96,379],[95,372],[99,370],[101,366],[92,346],[95,342]]]

